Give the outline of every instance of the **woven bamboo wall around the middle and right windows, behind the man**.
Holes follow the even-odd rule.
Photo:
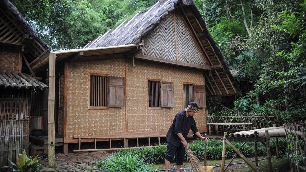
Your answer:
[[[170,71],[170,75],[169,75]],[[147,110],[147,79],[174,82],[174,108]],[[128,132],[167,131],[178,111],[184,109],[183,82],[203,85],[200,71],[172,68],[135,61],[128,64]],[[195,115],[198,128],[205,128],[205,109]]]

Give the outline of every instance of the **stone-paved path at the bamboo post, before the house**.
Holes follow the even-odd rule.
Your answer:
[[[55,159],[55,167],[58,172],[79,172],[79,171],[92,171],[98,172],[99,170],[93,169],[91,166],[106,156],[106,151],[96,152],[78,152],[68,154],[56,154],[58,158]],[[41,161],[43,166],[48,166],[48,160]]]

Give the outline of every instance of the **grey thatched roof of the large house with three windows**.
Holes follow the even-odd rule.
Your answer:
[[[160,0],[155,5],[124,21],[118,27],[99,36],[83,48],[139,44],[142,37],[174,10],[182,14],[192,34],[197,38],[197,43],[205,52],[204,58],[206,58],[208,65],[222,65],[221,69],[212,69],[205,73],[207,95],[241,94],[239,86],[223,60],[220,49],[211,37],[204,19],[192,0]]]

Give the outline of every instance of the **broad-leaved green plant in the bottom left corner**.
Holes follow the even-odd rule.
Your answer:
[[[42,164],[39,162],[39,159],[37,159],[37,156],[38,155],[31,160],[26,155],[26,152],[23,151],[22,154],[19,154],[16,164],[9,160],[12,166],[4,166],[4,168],[10,168],[12,171],[18,172],[41,172],[43,171],[40,170]]]

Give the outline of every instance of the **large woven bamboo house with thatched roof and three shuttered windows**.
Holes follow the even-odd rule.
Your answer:
[[[206,132],[206,97],[239,93],[193,1],[158,1],[83,49],[51,52],[36,67],[49,58],[51,68],[57,64],[49,76],[63,73],[55,109],[65,149],[80,136],[165,135],[191,101]]]

